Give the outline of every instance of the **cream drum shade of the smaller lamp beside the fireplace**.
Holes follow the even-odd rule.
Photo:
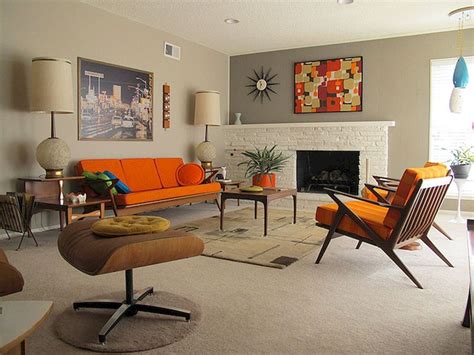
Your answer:
[[[194,124],[221,125],[221,94],[217,91],[198,91],[195,95]]]

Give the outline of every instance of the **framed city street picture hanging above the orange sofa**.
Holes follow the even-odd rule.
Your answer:
[[[153,73],[77,62],[79,140],[152,141]]]

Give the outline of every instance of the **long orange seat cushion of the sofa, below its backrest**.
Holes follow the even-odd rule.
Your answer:
[[[168,189],[131,192],[126,195],[119,194],[116,196],[115,201],[119,206],[127,206],[220,191],[221,185],[217,182],[213,182],[202,185],[179,186]]]

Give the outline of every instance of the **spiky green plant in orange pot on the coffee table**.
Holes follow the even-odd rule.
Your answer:
[[[248,160],[239,163],[246,165],[246,177],[252,177],[252,183],[261,187],[275,187],[276,175],[281,172],[289,157],[284,156],[282,152],[277,152],[276,145],[270,149],[265,146],[263,149],[255,148],[254,151],[242,152],[242,155],[249,158]]]

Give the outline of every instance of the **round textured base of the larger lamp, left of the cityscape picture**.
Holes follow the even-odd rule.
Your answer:
[[[70,158],[71,150],[59,138],[45,139],[36,148],[36,160],[46,170],[47,178],[62,177]]]

